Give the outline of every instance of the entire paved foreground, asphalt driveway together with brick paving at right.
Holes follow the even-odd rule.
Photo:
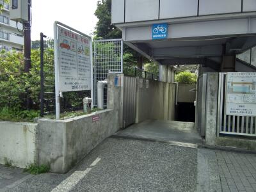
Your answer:
[[[256,156],[108,138],[65,175],[24,175],[0,191],[256,191]]]

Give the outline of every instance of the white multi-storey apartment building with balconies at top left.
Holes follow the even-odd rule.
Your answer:
[[[0,51],[5,49],[6,51],[22,51],[24,40],[22,33],[22,24],[10,20],[9,4],[0,0],[0,4],[3,4],[4,10],[0,13]]]

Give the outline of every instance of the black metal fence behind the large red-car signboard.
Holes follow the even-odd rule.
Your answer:
[[[54,41],[41,33],[41,92],[40,115],[55,113]],[[83,98],[90,97],[90,91],[65,92],[60,98],[60,113],[83,109]]]

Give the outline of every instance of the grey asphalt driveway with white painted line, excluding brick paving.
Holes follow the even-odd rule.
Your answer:
[[[195,191],[195,148],[109,138],[67,175],[44,174],[8,191]]]

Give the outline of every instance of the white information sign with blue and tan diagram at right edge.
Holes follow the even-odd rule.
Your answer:
[[[256,116],[256,73],[228,73],[226,115]]]

